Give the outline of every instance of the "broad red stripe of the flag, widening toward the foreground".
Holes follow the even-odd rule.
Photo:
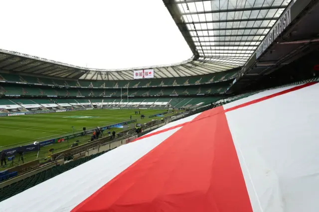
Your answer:
[[[252,212],[223,107],[196,120],[72,212]]]

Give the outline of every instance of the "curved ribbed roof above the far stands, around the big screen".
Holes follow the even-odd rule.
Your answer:
[[[133,80],[134,70],[141,69],[154,69],[155,78],[187,77],[227,71],[239,66],[241,65],[237,61],[229,63],[222,58],[214,61],[197,61],[192,57],[182,63],[166,66],[103,70],[73,66],[0,49],[0,70],[82,80]]]

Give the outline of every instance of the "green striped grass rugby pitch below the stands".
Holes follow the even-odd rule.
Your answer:
[[[141,114],[146,116],[144,119],[141,119],[140,115],[135,115],[134,111],[139,111],[139,109],[94,109],[0,117],[0,149],[72,133],[72,126],[75,131],[82,131],[83,127],[88,129],[123,122],[129,120],[130,115],[132,119],[138,119],[137,123],[146,123],[160,118],[148,118],[149,115],[166,110],[140,110]],[[121,129],[115,128],[115,131],[121,131]]]

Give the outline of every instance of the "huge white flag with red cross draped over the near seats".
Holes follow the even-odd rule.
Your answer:
[[[317,212],[318,96],[276,89],[171,122],[0,212]]]

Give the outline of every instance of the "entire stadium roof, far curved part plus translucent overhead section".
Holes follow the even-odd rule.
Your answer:
[[[0,50],[0,70],[82,80],[132,80],[141,69],[154,69],[155,78],[227,71],[247,62],[290,1],[163,0],[194,54],[178,64],[94,69]]]

